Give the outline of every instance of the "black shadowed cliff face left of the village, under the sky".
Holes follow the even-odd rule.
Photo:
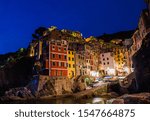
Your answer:
[[[26,86],[32,77],[34,59],[22,57],[0,69],[0,95],[10,88]]]

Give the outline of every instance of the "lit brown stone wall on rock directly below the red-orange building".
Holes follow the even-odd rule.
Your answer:
[[[64,77],[46,77],[40,75],[38,92],[39,96],[63,95],[72,93],[72,82]]]

